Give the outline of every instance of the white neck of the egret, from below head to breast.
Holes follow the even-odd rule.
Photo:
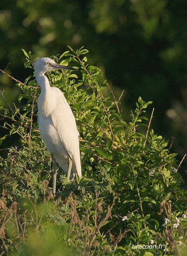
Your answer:
[[[45,75],[36,75],[36,81],[41,87],[41,94],[38,97],[38,111],[40,115],[48,117],[55,104],[51,87]]]

